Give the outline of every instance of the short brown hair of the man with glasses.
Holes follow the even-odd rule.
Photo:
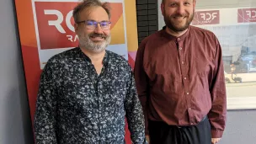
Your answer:
[[[101,7],[104,8],[106,13],[108,13],[109,19],[111,17],[110,14],[110,6],[109,3],[101,3],[99,0],[83,0],[83,2],[78,3],[77,6],[73,9],[73,18],[75,23],[78,23],[79,15],[86,8],[92,7]]]

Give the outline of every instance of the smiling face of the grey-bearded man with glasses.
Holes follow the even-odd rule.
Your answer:
[[[102,7],[92,7],[83,9],[79,13],[79,21],[106,22],[109,15]],[[88,51],[99,53],[104,51],[111,40],[110,29],[102,29],[100,24],[96,28],[90,29],[92,23],[84,22],[75,24],[76,34],[79,38],[79,46]]]

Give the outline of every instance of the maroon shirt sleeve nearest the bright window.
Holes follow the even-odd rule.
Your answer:
[[[221,45],[215,37],[216,56],[213,80],[211,82],[212,107],[208,114],[211,123],[212,138],[221,138],[226,126],[227,120],[227,94],[224,76],[224,67],[222,62]]]

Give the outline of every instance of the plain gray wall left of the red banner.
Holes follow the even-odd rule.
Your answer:
[[[0,0],[0,144],[31,144],[33,134],[12,0]]]

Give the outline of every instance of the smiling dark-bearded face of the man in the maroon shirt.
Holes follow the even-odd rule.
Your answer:
[[[165,0],[161,4],[164,22],[173,32],[189,28],[195,13],[195,0]]]

